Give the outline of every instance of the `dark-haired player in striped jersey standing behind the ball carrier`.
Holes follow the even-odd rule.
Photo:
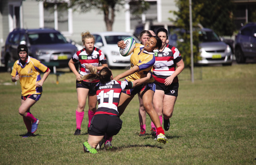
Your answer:
[[[155,50],[156,62],[153,67],[156,91],[153,104],[162,124],[164,115],[164,129],[170,127],[169,118],[172,117],[175,101],[178,96],[178,75],[184,69],[184,62],[177,48],[166,43],[168,32],[164,28],[157,30],[157,36],[162,40],[162,47]],[[176,68],[177,65],[177,68]],[[152,128],[155,127],[153,122]]]

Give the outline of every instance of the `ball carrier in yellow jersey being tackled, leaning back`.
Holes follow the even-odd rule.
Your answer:
[[[119,41],[117,43],[119,48],[125,48],[125,44],[123,41]],[[155,56],[154,50],[158,49],[162,46],[162,41],[158,36],[149,35],[149,39],[145,42],[144,45],[136,44],[133,54],[131,56],[131,69],[116,76],[114,80],[119,80],[125,77],[126,81],[135,81],[147,76],[149,72],[151,72],[152,67],[155,64]],[[123,91],[120,95],[120,101],[118,105],[118,112],[121,115],[126,106],[130,103],[133,97],[140,93],[143,100],[143,106],[146,112],[149,114],[151,120],[155,124],[158,135],[158,142],[166,143],[167,139],[165,137],[164,130],[160,123],[160,119],[158,117],[157,112],[153,107],[153,96],[156,89],[156,85],[153,83],[155,80],[151,77],[150,80],[145,82],[144,84],[137,86],[133,89],[129,89]]]

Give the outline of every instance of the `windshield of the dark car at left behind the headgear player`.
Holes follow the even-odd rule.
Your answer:
[[[28,39],[31,45],[67,43],[60,33],[31,33],[28,34]]]

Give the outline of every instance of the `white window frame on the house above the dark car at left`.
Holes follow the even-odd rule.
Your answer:
[[[48,3],[51,3],[51,1],[47,1]],[[63,3],[70,3],[69,0],[62,1]],[[54,28],[55,30],[58,30],[58,11],[57,11],[57,5],[54,7]],[[44,1],[39,1],[39,26],[40,28],[44,28]],[[68,9],[68,31],[61,31],[61,33],[65,37],[71,37],[73,34],[73,9]]]

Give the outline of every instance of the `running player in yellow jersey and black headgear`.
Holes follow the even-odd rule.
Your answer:
[[[33,136],[39,123],[39,120],[30,113],[30,107],[41,97],[42,84],[51,71],[40,61],[28,56],[26,45],[18,46],[18,54],[20,59],[14,63],[11,76],[12,82],[17,80],[20,82],[21,105],[19,114],[23,116],[23,121],[27,128],[27,133],[23,137],[29,137]],[[45,73],[42,79],[40,71]]]

